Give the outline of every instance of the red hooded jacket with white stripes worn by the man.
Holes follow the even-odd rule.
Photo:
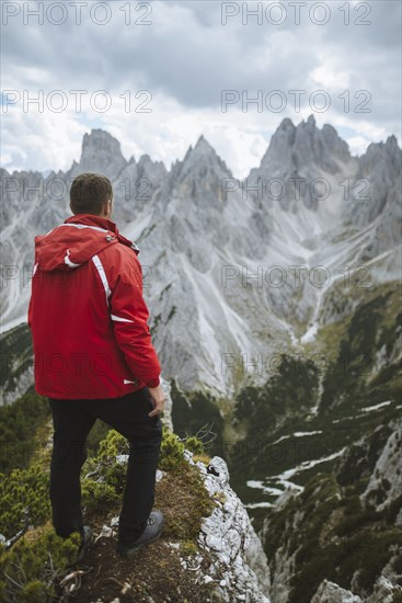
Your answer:
[[[28,326],[38,394],[115,398],[159,385],[138,253],[91,214],[35,237]]]

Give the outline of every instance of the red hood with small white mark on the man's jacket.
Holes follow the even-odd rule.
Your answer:
[[[114,221],[92,214],[77,214],[46,235],[35,237],[35,265],[46,272],[70,271],[118,242],[139,253],[136,243],[123,237]]]

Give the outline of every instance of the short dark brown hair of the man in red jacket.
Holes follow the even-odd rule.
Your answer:
[[[71,184],[70,207],[74,214],[99,216],[108,198],[113,200],[113,189],[105,175],[85,172],[78,175]]]

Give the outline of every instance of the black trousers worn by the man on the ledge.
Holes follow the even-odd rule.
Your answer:
[[[154,482],[162,422],[148,387],[120,398],[61,400],[49,398],[55,433],[50,463],[53,525],[66,538],[83,534],[80,475],[87,458],[87,436],[101,419],[129,442],[127,477],[119,515],[118,541],[131,544],[145,530],[154,501]]]

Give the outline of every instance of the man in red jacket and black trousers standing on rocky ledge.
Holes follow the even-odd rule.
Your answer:
[[[129,442],[117,550],[131,555],[156,541],[163,515],[153,511],[164,396],[142,297],[138,247],[110,219],[107,178],[82,173],[70,190],[72,216],[35,237],[28,325],[35,388],[53,412],[53,524],[80,532],[79,560],[92,541],[83,526],[80,473],[87,436],[99,418]]]

